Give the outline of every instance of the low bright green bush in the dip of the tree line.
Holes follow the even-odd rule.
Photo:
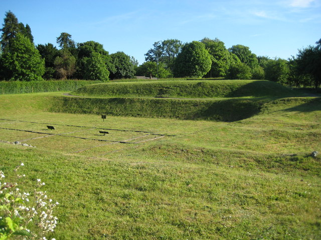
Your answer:
[[[154,61],[145,61],[137,67],[137,75],[147,76],[149,78],[157,76],[157,63]],[[158,63],[158,77],[168,78],[171,76],[171,72],[165,69],[163,62]]]

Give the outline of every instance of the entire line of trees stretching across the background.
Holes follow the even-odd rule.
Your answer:
[[[298,50],[289,59],[257,56],[248,46],[226,48],[223,41],[208,37],[183,43],[178,39],[154,42],[138,66],[134,57],[122,51],[109,54],[95,41],[75,43],[62,32],[59,49],[52,43],[33,43],[31,28],[6,13],[1,36],[0,79],[91,79],[108,80],[149,77],[223,77],[228,79],[268,79],[292,86],[321,83],[321,39],[315,46]]]

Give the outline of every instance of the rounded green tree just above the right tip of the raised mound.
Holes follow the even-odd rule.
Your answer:
[[[281,58],[270,59],[265,66],[265,78],[270,81],[287,83],[289,74],[288,61]]]

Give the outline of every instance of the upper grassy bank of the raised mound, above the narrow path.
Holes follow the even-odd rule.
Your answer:
[[[262,97],[301,96],[290,88],[267,80],[171,80],[108,82],[87,85],[72,92],[102,97]]]

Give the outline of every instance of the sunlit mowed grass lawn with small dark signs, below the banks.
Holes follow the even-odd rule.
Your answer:
[[[321,151],[320,98],[278,99],[236,122],[102,121],[49,112],[59,94],[0,96],[0,169],[10,178],[24,162],[26,191],[46,182],[60,202],[50,237],[321,239],[321,158],[310,156]],[[5,142],[15,140],[36,147]]]

